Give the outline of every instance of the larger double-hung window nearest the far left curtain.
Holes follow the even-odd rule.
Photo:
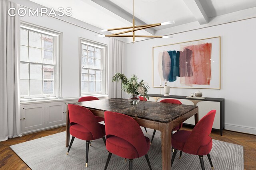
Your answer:
[[[61,33],[22,25],[20,29],[20,98],[59,96]]]

